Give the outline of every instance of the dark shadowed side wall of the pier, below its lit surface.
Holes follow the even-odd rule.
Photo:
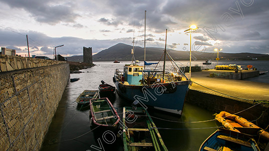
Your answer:
[[[186,102],[196,105],[200,108],[204,108],[208,111],[219,113],[226,111],[231,114],[243,111],[238,116],[241,116],[248,121],[253,121],[253,124],[265,129],[269,124],[269,111],[268,106],[258,104],[257,106],[250,108],[258,102],[242,101],[226,96],[220,96],[215,94],[209,94],[196,90],[189,90],[186,96]],[[248,109],[250,108],[250,109]],[[248,109],[248,110],[245,110]],[[245,110],[245,111],[244,111]],[[213,116],[212,116],[213,118]]]

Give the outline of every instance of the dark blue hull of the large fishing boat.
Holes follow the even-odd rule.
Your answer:
[[[154,86],[135,86],[124,85],[118,81],[114,82],[120,96],[130,101],[137,100],[144,108],[149,106],[179,116],[182,114],[186,93],[191,83],[191,81],[178,81],[173,84],[163,83]],[[167,91],[162,91],[163,88]]]

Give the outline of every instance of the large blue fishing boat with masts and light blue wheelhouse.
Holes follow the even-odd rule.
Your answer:
[[[116,86],[116,92],[120,96],[131,101],[136,100],[144,108],[153,107],[154,109],[173,113],[180,117],[186,94],[192,82],[183,74],[171,56],[166,52],[166,43],[163,55],[162,71],[155,69],[145,70],[145,65],[152,64],[145,62],[145,60],[144,66],[139,66],[138,61],[132,61],[130,64],[124,65],[123,71],[115,70],[113,82]],[[171,60],[173,66],[177,67],[174,68],[174,72],[165,71],[166,55]]]

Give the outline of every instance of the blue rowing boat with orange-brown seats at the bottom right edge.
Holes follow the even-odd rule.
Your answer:
[[[199,151],[260,151],[247,134],[219,128],[200,146]]]

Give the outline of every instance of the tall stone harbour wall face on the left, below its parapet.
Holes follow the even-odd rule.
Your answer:
[[[68,79],[68,63],[0,72],[0,151],[40,149]]]

